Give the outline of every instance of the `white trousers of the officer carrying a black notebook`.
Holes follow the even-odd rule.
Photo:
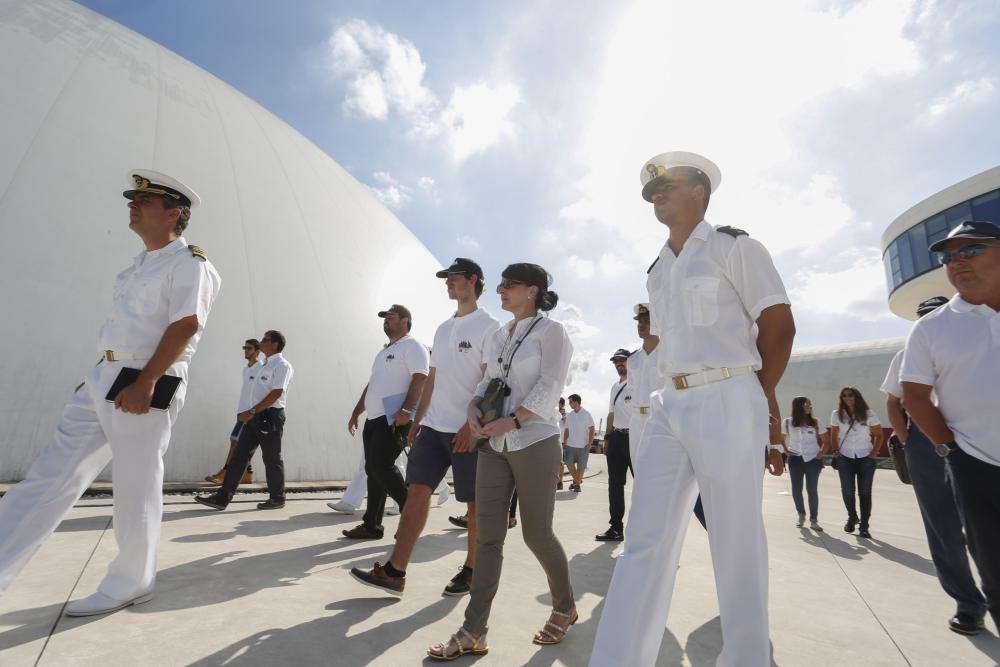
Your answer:
[[[181,382],[168,410],[127,414],[104,400],[124,365],[127,362],[102,361],[94,367],[66,404],[52,441],[24,480],[0,499],[0,592],[108,461],[118,555],[98,590],[118,600],[152,590],[163,514],[163,454],[187,383]],[[186,380],[187,363],[174,364],[168,372]]]

